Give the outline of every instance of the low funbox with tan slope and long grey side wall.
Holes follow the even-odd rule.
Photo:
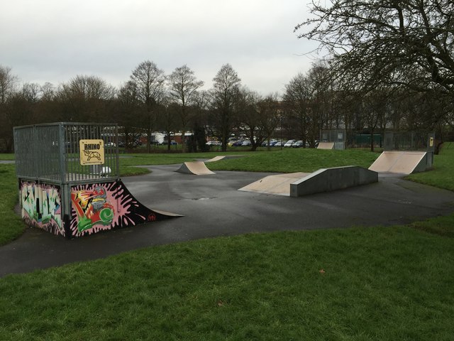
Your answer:
[[[239,190],[300,197],[376,183],[378,173],[358,166],[323,168],[314,173],[269,175]]]

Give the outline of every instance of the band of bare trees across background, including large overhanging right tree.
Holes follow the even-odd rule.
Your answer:
[[[223,150],[232,134],[247,136],[253,150],[272,137],[314,146],[321,129],[436,131],[438,139],[452,138],[453,13],[448,0],[314,1],[311,19],[295,31],[319,41],[323,57],[292,77],[282,94],[265,96],[242,85],[230,64],[209,90],[187,65],[165,75],[150,60],[118,89],[85,75],[57,87],[19,85],[11,68],[0,65],[0,149],[12,150],[13,126],[53,121],[118,123],[127,145],[162,131],[170,148],[172,134],[190,131],[182,143],[191,151],[204,150],[205,135],[219,139]]]

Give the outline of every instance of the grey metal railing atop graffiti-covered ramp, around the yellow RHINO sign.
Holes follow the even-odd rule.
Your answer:
[[[116,124],[35,124],[13,133],[18,178],[76,185],[119,177]],[[79,142],[92,139],[104,142],[104,163],[87,166]]]

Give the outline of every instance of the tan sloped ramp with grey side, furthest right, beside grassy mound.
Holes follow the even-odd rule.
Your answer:
[[[384,151],[369,167],[379,173],[411,174],[427,169],[425,151]]]

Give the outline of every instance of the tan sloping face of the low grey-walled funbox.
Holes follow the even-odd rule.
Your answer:
[[[245,192],[265,193],[274,195],[290,195],[290,184],[304,178],[310,173],[288,173],[268,175],[265,178],[250,183],[249,185],[240,188]]]

